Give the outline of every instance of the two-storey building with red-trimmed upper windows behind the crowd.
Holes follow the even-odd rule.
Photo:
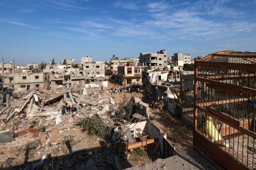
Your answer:
[[[117,79],[122,85],[142,83],[142,71],[146,66],[119,66]]]

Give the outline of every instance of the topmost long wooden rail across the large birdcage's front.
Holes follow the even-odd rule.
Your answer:
[[[256,72],[255,64],[195,61],[195,66]]]

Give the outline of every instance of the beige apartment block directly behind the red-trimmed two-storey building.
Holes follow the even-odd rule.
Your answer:
[[[115,57],[115,55],[113,55],[113,57],[110,58],[110,74],[117,74],[118,72],[117,67],[126,66],[127,62],[138,62],[138,61],[139,61],[138,59],[136,61],[135,57],[119,59],[118,57]]]

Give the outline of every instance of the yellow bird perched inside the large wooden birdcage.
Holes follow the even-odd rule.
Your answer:
[[[229,148],[229,144],[225,142],[225,140],[220,136],[218,130],[215,128],[214,124],[212,123],[212,117],[206,116],[206,134],[208,135],[209,139],[212,140],[212,142],[215,142],[219,145],[226,145],[227,148]],[[213,134],[213,135],[212,135]]]

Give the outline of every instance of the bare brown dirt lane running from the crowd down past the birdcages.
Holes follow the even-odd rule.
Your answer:
[[[114,87],[117,83],[113,79],[108,79],[108,89]],[[146,92],[141,90],[140,93],[123,93],[125,98],[131,99],[132,96],[138,97],[145,101]],[[122,96],[115,94],[114,101],[122,99]],[[158,103],[162,103],[159,101]],[[156,107],[152,109],[149,107],[149,112],[156,115],[156,120],[153,122],[156,127],[158,127],[162,133],[167,134],[167,140],[172,145],[175,146],[180,152],[187,153],[193,151],[193,126],[185,122],[180,116],[171,115],[167,107],[160,109],[161,104],[155,104]]]

